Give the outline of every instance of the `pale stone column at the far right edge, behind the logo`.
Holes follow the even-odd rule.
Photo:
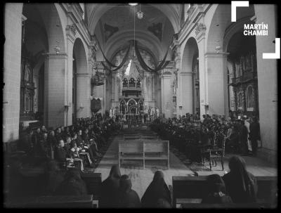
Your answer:
[[[268,36],[256,37],[256,62],[259,89],[259,122],[262,148],[258,156],[270,162],[277,157],[277,59],[263,59],[263,53],[275,53],[277,9],[273,4],[255,4],[256,23],[268,24]],[[266,11],[266,13],[264,12]],[[280,60],[280,59],[279,59]]]

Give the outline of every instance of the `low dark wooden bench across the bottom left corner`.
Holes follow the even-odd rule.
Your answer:
[[[93,195],[23,197],[4,205],[13,208],[92,208]]]

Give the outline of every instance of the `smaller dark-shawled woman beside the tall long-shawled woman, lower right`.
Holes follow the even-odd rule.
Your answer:
[[[226,195],[226,186],[223,179],[218,174],[207,176],[207,196],[203,198],[202,203],[230,203],[233,202],[230,196]]]

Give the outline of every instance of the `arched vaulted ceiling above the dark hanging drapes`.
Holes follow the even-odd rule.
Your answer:
[[[162,58],[172,35],[179,30],[181,6],[141,4],[143,19],[140,20],[136,15],[140,10],[139,4],[134,7],[129,4],[86,4],[89,31],[96,34],[107,57],[110,57],[112,49],[118,48],[118,44],[124,43],[122,41],[136,38],[143,41],[156,58]]]

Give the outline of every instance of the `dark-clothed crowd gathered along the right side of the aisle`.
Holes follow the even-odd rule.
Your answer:
[[[195,162],[201,162],[198,146],[222,147],[224,143],[226,152],[249,155],[249,139],[252,154],[256,155],[257,141],[260,139],[257,118],[247,119],[247,116],[226,119],[221,115],[203,115],[200,121],[197,116],[187,113],[178,119],[157,118],[151,128],[178,150],[186,151],[187,157]]]

